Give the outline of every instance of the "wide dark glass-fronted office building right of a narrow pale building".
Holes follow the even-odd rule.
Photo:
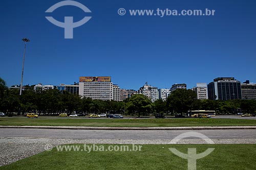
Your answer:
[[[242,99],[241,82],[234,78],[216,78],[207,87],[210,100]]]

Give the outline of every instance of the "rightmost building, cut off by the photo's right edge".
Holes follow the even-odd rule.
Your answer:
[[[256,99],[256,84],[249,80],[241,84],[242,99]]]

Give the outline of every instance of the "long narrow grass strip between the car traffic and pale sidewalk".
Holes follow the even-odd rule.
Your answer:
[[[168,118],[0,118],[0,126],[92,126],[92,127],[189,127],[189,126],[256,126],[256,119]]]

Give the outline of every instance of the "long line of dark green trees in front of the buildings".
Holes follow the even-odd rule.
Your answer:
[[[166,101],[157,100],[154,103],[142,94],[135,94],[130,99],[116,102],[80,98],[79,95],[57,89],[35,92],[28,88],[19,96],[18,89],[7,88],[5,81],[0,78],[0,112],[9,115],[13,112],[36,112],[42,115],[76,112],[129,114],[140,117],[148,114],[184,114],[188,110],[215,110],[219,114],[236,114],[242,110],[243,113],[255,114],[256,100],[197,100],[196,92],[186,89],[177,89]]]

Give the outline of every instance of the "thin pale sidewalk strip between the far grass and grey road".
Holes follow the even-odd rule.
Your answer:
[[[80,130],[225,130],[256,129],[256,126],[199,126],[199,127],[84,127],[84,126],[0,126],[0,128],[80,129]]]

